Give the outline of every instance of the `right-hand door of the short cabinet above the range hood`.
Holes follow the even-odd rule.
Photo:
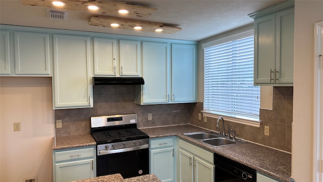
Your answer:
[[[120,76],[141,75],[141,47],[137,40],[119,40]]]

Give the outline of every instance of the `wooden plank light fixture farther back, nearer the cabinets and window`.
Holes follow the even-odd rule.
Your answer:
[[[125,19],[125,18],[117,18],[117,17],[107,17],[107,16],[99,16],[99,17],[91,17],[89,20],[89,25],[94,26],[103,26],[103,27],[112,27],[112,23],[118,23],[120,29],[134,30],[134,27],[140,25],[142,31],[155,32],[156,30],[161,33],[176,33],[181,31],[180,27],[171,27],[165,26],[163,23],[157,22],[149,22],[149,21],[140,21],[133,19]]]

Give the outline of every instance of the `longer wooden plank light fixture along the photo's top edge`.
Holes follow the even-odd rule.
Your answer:
[[[59,1],[59,0],[51,0]],[[53,6],[48,0],[23,0],[21,1],[23,5],[36,6],[36,7],[57,7]],[[78,10],[87,11],[87,6],[95,5],[100,7],[96,12],[100,15],[105,16],[119,16],[118,10],[131,10],[127,14],[128,17],[135,18],[146,18],[157,11],[155,8],[143,7],[138,5],[129,5],[126,2],[115,2],[115,1],[105,1],[105,0],[73,0],[64,1],[65,10]]]

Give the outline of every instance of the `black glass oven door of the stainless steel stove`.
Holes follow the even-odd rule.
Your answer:
[[[96,176],[115,173],[120,173],[124,178],[149,174],[148,146],[144,149],[133,147],[97,154]]]

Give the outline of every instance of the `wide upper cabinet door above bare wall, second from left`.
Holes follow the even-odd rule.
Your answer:
[[[14,32],[15,74],[50,75],[49,34]]]

